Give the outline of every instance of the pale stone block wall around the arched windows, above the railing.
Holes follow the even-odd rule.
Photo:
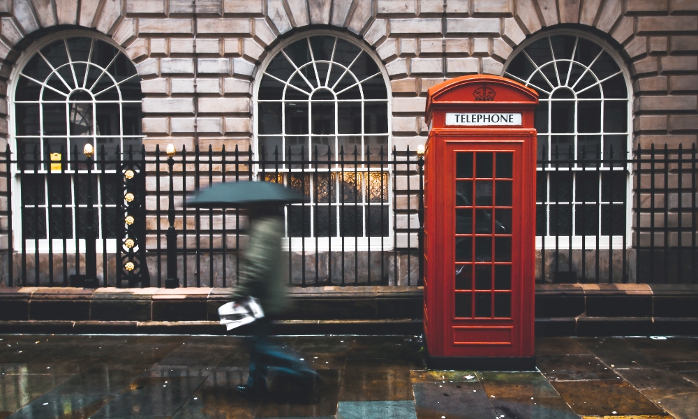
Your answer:
[[[142,77],[150,150],[170,142],[246,149],[260,63],[283,38],[313,28],[347,32],[380,57],[399,149],[426,141],[429,87],[457,75],[500,75],[517,45],[558,27],[589,31],[625,60],[634,147],[697,140],[696,0],[0,0],[0,16],[3,96],[27,40],[45,29],[96,30],[124,47]],[[8,114],[6,100],[0,114]],[[0,135],[8,136],[7,117]]]

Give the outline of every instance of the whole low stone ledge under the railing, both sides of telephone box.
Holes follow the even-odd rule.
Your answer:
[[[191,321],[218,321],[218,307],[232,300],[233,291],[232,288],[0,288],[0,321],[88,322],[79,323],[81,328],[91,328],[89,322],[135,322],[140,328],[147,327],[150,324],[147,322],[155,322],[157,326],[153,328],[177,322],[184,327]],[[325,322],[317,323],[323,324],[318,330],[329,327],[325,326],[330,324],[328,321],[343,325],[348,321],[419,321],[422,293],[422,287],[417,286],[290,288],[292,307],[278,319]],[[547,321],[575,319],[573,325],[568,321],[545,323],[570,334],[578,332],[579,318],[616,318],[617,321],[698,318],[698,286],[537,284],[535,314]],[[586,327],[591,321],[581,320],[581,324]],[[302,328],[306,330],[309,326]]]

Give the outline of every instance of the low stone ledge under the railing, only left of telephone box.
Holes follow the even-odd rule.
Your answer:
[[[422,287],[289,288],[281,319],[422,318]],[[0,321],[218,321],[233,288],[0,288]]]

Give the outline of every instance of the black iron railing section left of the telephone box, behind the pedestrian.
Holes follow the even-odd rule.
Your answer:
[[[75,149],[75,158],[61,150],[52,160],[35,149],[18,161],[6,152],[8,196],[19,198],[21,219],[19,240],[8,232],[6,285],[234,286],[246,212],[192,208],[186,198],[247,180],[281,182],[309,198],[284,211],[281,262],[291,285],[419,284],[423,159],[409,150],[328,151],[262,150],[255,159],[237,147],[158,147],[87,158]]]

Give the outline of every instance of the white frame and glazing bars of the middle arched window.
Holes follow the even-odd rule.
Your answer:
[[[364,45],[361,45],[355,38],[347,36],[346,34],[339,34],[339,33],[336,33],[334,31],[312,31],[311,33],[297,34],[295,36],[292,36],[292,37],[286,39],[285,41],[283,41],[282,43],[280,43],[279,45],[276,45],[276,47],[274,47],[274,49],[272,51],[270,51],[269,54],[267,54],[267,57],[265,58],[265,60],[262,61],[262,64],[259,67],[260,69],[257,72],[257,75],[255,76],[255,84],[253,87],[254,108],[253,108],[252,124],[253,124],[253,150],[254,150],[255,161],[259,160],[258,147],[259,147],[260,134],[258,132],[257,118],[258,118],[258,115],[260,115],[259,114],[260,100],[258,99],[258,97],[259,97],[259,89],[260,89],[260,84],[262,81],[262,76],[265,75],[265,70],[266,70],[267,66],[269,66],[269,64],[276,57],[277,54],[284,54],[285,55],[285,52],[283,52],[283,49],[285,47],[288,47],[289,45],[291,45],[297,41],[300,41],[302,39],[312,38],[314,36],[332,36],[334,38],[337,38],[338,40],[342,39],[344,41],[348,41],[349,43],[352,43],[353,45],[356,45],[357,47],[359,47],[359,50],[362,51],[359,54],[357,54],[357,57],[355,57],[355,59],[358,58],[360,54],[366,54],[366,55],[368,55],[368,57],[373,59],[373,61],[378,66],[379,73],[377,73],[376,75],[370,76],[369,78],[366,78],[366,79],[361,80],[361,81],[369,80],[370,78],[382,77],[383,82],[385,83],[385,89],[387,91],[387,98],[385,100],[383,100],[383,99],[371,100],[371,99],[363,99],[362,98],[362,99],[355,99],[355,100],[347,100],[347,102],[349,102],[349,101],[359,102],[360,101],[362,103],[362,113],[363,113],[363,104],[366,103],[366,101],[376,101],[376,102],[384,102],[385,101],[385,103],[387,103],[387,133],[386,134],[366,134],[366,133],[364,133],[364,123],[363,123],[363,119],[362,119],[362,133],[360,133],[360,134],[339,134],[338,133],[339,128],[338,128],[338,124],[337,124],[337,120],[336,120],[337,112],[334,113],[334,117],[335,117],[335,121],[334,121],[335,133],[334,134],[313,134],[313,133],[311,133],[310,131],[311,131],[311,127],[312,127],[312,106],[311,106],[312,102],[310,101],[310,97],[312,96],[312,93],[315,90],[322,89],[322,87],[318,87],[318,88],[313,89],[313,92],[311,92],[311,95],[308,98],[308,103],[309,103],[309,112],[308,112],[308,115],[309,115],[308,116],[309,117],[309,121],[308,121],[309,134],[307,134],[307,135],[285,134],[284,133],[285,129],[282,126],[282,133],[281,134],[273,134],[273,135],[267,134],[267,135],[262,135],[262,137],[269,136],[269,137],[285,138],[285,137],[304,136],[304,137],[308,138],[308,146],[311,147],[313,138],[333,137],[333,138],[335,138],[335,141],[336,141],[339,137],[343,137],[343,136],[345,136],[347,138],[360,136],[362,138],[362,146],[360,149],[360,155],[361,155],[361,159],[363,160],[365,158],[365,156],[364,156],[364,142],[363,142],[364,138],[366,138],[370,135],[376,135],[376,136],[385,135],[385,136],[387,136],[387,147],[384,149],[384,152],[385,152],[384,159],[385,159],[385,161],[392,161],[392,124],[391,124],[391,119],[392,119],[392,100],[391,100],[392,99],[392,89],[391,89],[390,80],[388,78],[385,66],[383,65],[383,62],[380,60],[380,57],[378,57],[369,48],[366,48]],[[336,43],[335,43],[335,46],[336,46]],[[312,50],[311,50],[311,54],[312,54]],[[289,80],[291,78],[293,78],[296,74],[301,74],[301,76],[304,78],[302,73],[300,73],[302,68],[304,68],[306,66],[310,66],[310,65],[314,66],[315,62],[323,62],[323,60],[315,60],[315,58],[313,57],[313,59],[309,63],[304,64],[301,67],[297,67],[295,65],[295,63],[293,63],[293,61],[288,56],[286,56],[286,58],[288,59],[288,61],[290,61],[292,66],[295,68],[295,72],[292,73],[292,75],[290,75]],[[336,63],[335,61],[332,61],[332,65],[341,65],[341,64]],[[350,73],[350,71],[348,71],[348,70],[346,70],[346,72]],[[317,74],[318,73],[315,70],[316,77],[317,77]],[[341,81],[342,77],[343,76],[341,76],[337,80],[338,83],[339,83],[339,81]],[[274,77],[272,76],[272,78],[274,78]],[[329,72],[328,72],[327,78],[329,78]],[[274,78],[274,79],[286,84],[287,87],[285,87],[285,89],[288,89],[288,86],[290,86],[290,84],[287,83],[288,80],[279,80],[278,78]],[[355,80],[357,80],[357,79],[355,79]],[[325,83],[327,84],[327,79],[325,80]],[[356,84],[354,84],[354,85],[352,85],[344,90],[348,90],[351,87],[354,87],[355,85]],[[334,101],[332,101],[332,103],[334,103],[335,109],[337,109],[336,105],[338,103],[338,100],[336,98],[336,94],[339,94],[339,93],[340,92],[333,91]],[[265,101],[261,101],[261,102],[263,103]],[[280,101],[269,101],[269,102],[279,103]],[[285,102],[302,102],[302,100],[285,99],[282,96],[281,103],[285,103]],[[282,109],[283,108],[284,107],[282,106]],[[285,117],[283,117],[283,116],[281,117],[281,123],[285,124]],[[335,142],[335,145],[336,144],[337,144],[337,142]],[[280,159],[282,159],[282,160],[285,159],[285,152],[286,152],[285,148],[286,148],[285,141],[283,141],[282,147],[281,147],[281,153],[280,153],[281,154]],[[350,150],[350,151],[344,150],[344,152],[345,152],[345,156],[346,156],[345,157],[346,163],[344,166],[345,173],[349,173],[349,172],[353,173],[354,166],[352,165],[352,159],[350,159],[350,157],[352,157],[353,150]],[[373,155],[374,153],[377,153],[377,152],[378,152],[378,150],[376,150],[375,152],[371,152],[371,155]],[[272,151],[267,150],[267,156],[269,156],[269,154],[271,154],[271,153],[272,153]],[[307,153],[311,154],[310,148],[309,148],[309,151]],[[329,170],[327,169],[327,167],[318,168],[317,169],[318,173],[341,172],[341,161],[339,161],[339,148],[338,147],[334,147],[334,154],[335,154],[334,161],[333,161],[334,167],[329,169]],[[267,157],[267,159],[269,159],[269,157]],[[269,165],[267,165],[267,166],[269,166]],[[296,166],[296,165],[294,165],[294,166]],[[282,165],[279,165],[279,174],[283,174],[287,179],[288,179],[288,175],[290,173],[293,173],[293,174],[304,173],[305,175],[309,175],[309,179],[310,179],[311,183],[307,187],[309,188],[311,196],[312,196],[313,195],[313,184],[312,184],[313,173],[315,172],[316,169],[315,169],[314,165],[311,163],[305,164],[303,166],[304,166],[303,169],[297,169],[297,168],[290,169],[290,168],[283,168]],[[375,167],[375,166],[371,165],[372,166],[371,168],[367,168],[365,166],[366,165],[359,166],[357,168],[357,173],[380,172],[381,171],[380,167]],[[376,165],[376,166],[378,166],[378,165]],[[267,174],[274,174],[276,172],[276,169],[267,167],[265,172]],[[393,186],[393,182],[394,182],[394,179],[392,176],[392,164],[389,164],[389,163],[385,164],[385,166],[383,166],[383,172],[387,174],[387,182],[385,184],[385,189],[387,189],[387,197],[385,197],[386,202],[385,202],[385,204],[383,204],[384,207],[387,207],[387,212],[388,212],[387,226],[386,226],[387,235],[376,236],[376,237],[367,237],[365,235],[364,236],[357,236],[357,237],[355,237],[355,236],[342,237],[340,235],[341,232],[339,231],[339,228],[340,228],[339,208],[341,208],[341,206],[342,206],[340,201],[339,201],[339,182],[334,182],[334,184],[332,186],[332,188],[333,188],[332,191],[333,191],[333,194],[335,195],[336,203],[318,203],[317,205],[318,205],[318,207],[329,205],[329,206],[333,206],[333,207],[337,208],[337,210],[336,210],[337,215],[336,215],[336,221],[335,221],[336,234],[337,234],[336,237],[315,237],[314,223],[313,223],[314,216],[315,216],[315,213],[314,213],[315,212],[315,203],[309,203],[309,204],[306,204],[306,208],[310,212],[311,233],[310,233],[309,237],[288,237],[288,213],[287,213],[287,210],[284,210],[285,219],[286,219],[284,226],[285,226],[286,230],[284,232],[284,237],[282,240],[283,249],[285,249],[285,250],[292,249],[293,251],[300,251],[302,249],[305,249],[306,251],[315,251],[315,250],[317,250],[317,251],[341,251],[342,249],[344,251],[366,251],[369,249],[371,249],[371,251],[374,251],[374,250],[377,251],[378,249],[383,249],[384,251],[392,250],[393,244],[394,244],[394,231],[393,231],[393,219],[392,219],[393,217],[391,216],[392,208],[393,208],[392,186]],[[253,165],[253,177],[254,177],[254,179],[259,179],[259,177],[260,177],[260,175],[262,175],[262,173],[263,173],[262,168],[260,167],[259,164]],[[362,177],[362,178],[366,179],[366,177]],[[339,179],[339,177],[338,177],[338,179]],[[288,182],[288,180],[287,180],[287,182]],[[367,191],[368,191],[367,185],[362,186],[362,195],[363,196],[359,196],[357,198],[363,198],[363,202],[356,205],[357,207],[364,208],[364,211],[363,211],[364,215],[362,216],[362,222],[364,223],[362,231],[364,233],[366,233],[366,231],[367,231],[366,230],[366,222],[367,222],[366,218],[367,217],[366,217],[365,208],[368,207],[369,205],[371,207],[374,205],[376,207],[381,206],[381,204],[379,204],[379,203],[376,203],[376,204],[367,204],[366,203],[366,196],[365,195],[366,195]],[[345,203],[345,206],[346,207],[354,207],[355,204],[354,203]],[[415,244],[416,244],[416,241],[415,241]]]

